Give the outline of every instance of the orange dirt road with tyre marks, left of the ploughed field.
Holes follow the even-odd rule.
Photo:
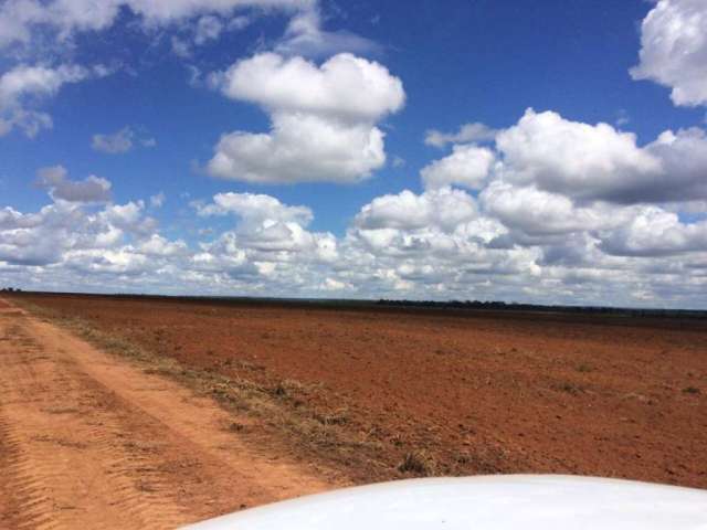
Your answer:
[[[0,528],[175,528],[331,487],[233,421],[0,299]]]

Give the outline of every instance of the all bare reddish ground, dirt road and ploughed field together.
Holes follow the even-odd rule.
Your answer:
[[[0,309],[0,528],[171,528],[424,475],[707,488],[704,319],[11,301],[49,320]]]

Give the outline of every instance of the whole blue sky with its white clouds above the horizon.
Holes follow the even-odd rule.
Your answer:
[[[0,0],[0,286],[707,309],[707,2]]]

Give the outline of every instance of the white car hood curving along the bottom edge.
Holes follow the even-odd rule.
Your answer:
[[[707,491],[551,475],[399,480],[254,508],[190,530],[707,530]]]

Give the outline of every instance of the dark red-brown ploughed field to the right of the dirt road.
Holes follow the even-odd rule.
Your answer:
[[[305,447],[357,481],[432,474],[570,473],[707,487],[703,320],[351,310],[165,299],[28,301],[182,365],[271,388],[374,442],[356,455]],[[314,456],[313,456],[314,455]]]

